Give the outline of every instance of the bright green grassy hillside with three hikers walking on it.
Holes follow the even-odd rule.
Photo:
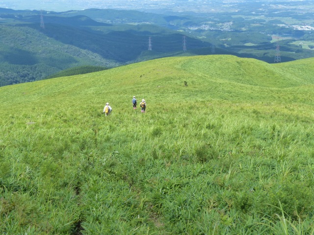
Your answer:
[[[173,57],[1,87],[0,233],[313,235],[313,62]]]

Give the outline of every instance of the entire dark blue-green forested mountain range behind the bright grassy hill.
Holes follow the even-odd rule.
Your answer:
[[[312,37],[261,19],[210,17],[0,8],[0,86],[45,79],[72,67],[112,68],[169,56],[231,54],[274,63],[276,42],[271,33]],[[280,42],[282,62],[313,56],[312,50],[293,44],[295,40],[289,37]]]

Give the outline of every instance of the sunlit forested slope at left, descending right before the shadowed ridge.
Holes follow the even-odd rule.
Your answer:
[[[41,80],[69,67],[119,65],[26,25],[0,25],[0,32],[0,86]]]

